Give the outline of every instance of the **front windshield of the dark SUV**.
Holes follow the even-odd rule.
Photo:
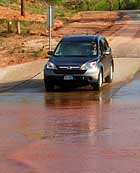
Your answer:
[[[91,57],[97,56],[95,41],[61,41],[57,46],[54,56],[65,57]]]

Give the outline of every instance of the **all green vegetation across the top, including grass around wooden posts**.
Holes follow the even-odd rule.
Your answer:
[[[0,6],[6,6],[20,12],[20,0],[0,0]],[[47,15],[48,5],[55,6],[55,18],[67,22],[74,13],[87,10],[118,10],[140,8],[140,0],[25,0],[25,12],[30,14]],[[7,30],[7,20],[0,19],[0,33]],[[16,20],[13,30],[16,31]],[[46,22],[21,21],[21,30],[27,34],[30,30],[44,30]]]

